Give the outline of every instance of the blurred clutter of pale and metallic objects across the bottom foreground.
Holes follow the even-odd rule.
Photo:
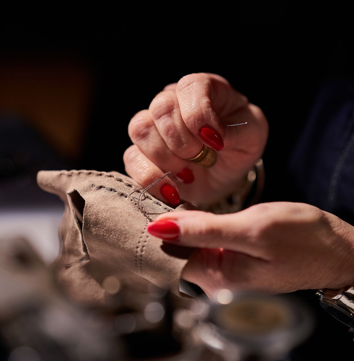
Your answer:
[[[198,302],[127,271],[102,280],[104,306],[78,305],[23,238],[0,240],[0,357],[8,361],[284,360],[312,318],[283,297],[220,290]],[[287,359],[289,360],[289,359]]]

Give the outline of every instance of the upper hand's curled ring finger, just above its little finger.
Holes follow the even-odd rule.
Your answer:
[[[171,126],[173,127],[173,121]],[[160,127],[163,128],[164,125],[161,124]],[[186,131],[189,132],[188,129]],[[129,123],[128,133],[131,141],[160,171],[171,171],[174,175],[190,167],[188,161],[176,156],[165,143],[148,110],[142,110],[135,114]],[[158,178],[155,178],[154,181]]]

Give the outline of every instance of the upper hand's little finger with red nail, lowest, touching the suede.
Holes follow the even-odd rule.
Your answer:
[[[141,152],[137,145],[131,145],[126,149],[123,161],[126,173],[141,184],[142,187],[149,186],[165,174]],[[177,184],[168,177],[165,177],[161,182],[149,188],[149,192],[164,202],[173,205],[180,203]]]

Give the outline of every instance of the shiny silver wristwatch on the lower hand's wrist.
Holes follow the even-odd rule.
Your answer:
[[[338,321],[354,328],[354,287],[341,290],[323,288],[316,292],[324,310]]]

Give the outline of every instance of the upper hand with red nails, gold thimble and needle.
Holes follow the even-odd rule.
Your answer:
[[[247,124],[224,127],[241,122]],[[207,206],[242,186],[262,156],[268,124],[262,111],[226,79],[198,73],[166,86],[148,110],[135,114],[128,132],[134,145],[123,160],[135,181],[146,187],[170,171],[150,193],[171,204],[181,197]],[[203,144],[218,156],[207,169],[185,160],[197,155]]]

